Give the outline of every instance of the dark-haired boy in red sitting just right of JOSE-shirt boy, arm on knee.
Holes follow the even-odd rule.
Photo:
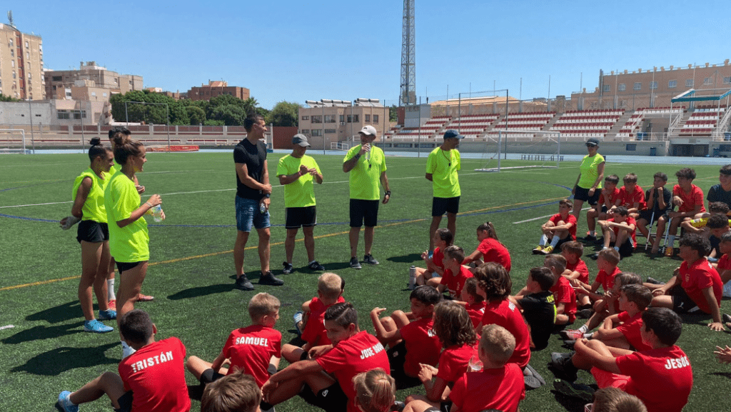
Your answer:
[[[383,345],[389,346],[387,353],[391,376],[398,389],[419,385],[419,365],[436,366],[442,351],[442,344],[432,331],[434,305],[442,300],[442,294],[431,286],[418,286],[412,291],[409,300],[411,319],[401,310],[379,319],[385,309],[376,307],[371,310],[376,337]]]

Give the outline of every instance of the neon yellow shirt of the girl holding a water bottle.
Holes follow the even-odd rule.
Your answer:
[[[115,261],[134,263],[150,260],[150,236],[144,217],[120,228],[117,222],[129,218],[140,207],[135,182],[118,171],[107,183],[104,193],[109,225],[109,250]]]

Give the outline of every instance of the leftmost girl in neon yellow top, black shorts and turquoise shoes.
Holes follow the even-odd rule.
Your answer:
[[[110,310],[107,301],[107,268],[109,267],[109,231],[107,212],[104,206],[104,190],[109,181],[109,170],[113,165],[112,151],[102,146],[99,138],[91,139],[88,150],[91,165],[74,181],[71,209],[73,217],[80,219],[76,239],[81,244],[81,279],[79,280],[79,303],[86,321],[86,332],[112,332],[110,326],[94,318],[92,287],[99,302],[99,318],[114,319],[116,312]],[[69,218],[65,218],[67,220]],[[65,222],[61,220],[63,225]]]

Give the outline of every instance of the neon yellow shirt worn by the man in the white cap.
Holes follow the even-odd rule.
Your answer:
[[[345,154],[347,162],[360,151],[360,144]],[[386,155],[383,149],[371,144],[371,151],[358,159],[349,172],[350,198],[377,201],[381,198],[381,173],[386,171]]]

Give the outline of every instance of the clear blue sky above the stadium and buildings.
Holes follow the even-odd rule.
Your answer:
[[[403,1],[26,1],[15,25],[43,37],[45,67],[96,61],[187,91],[208,80],[287,100],[398,100]],[[594,90],[599,70],[722,63],[727,1],[416,0],[417,96]],[[5,12],[6,10],[2,10]],[[3,15],[4,18],[4,15]],[[7,23],[7,20],[2,20]],[[523,79],[522,92],[520,79]],[[425,100],[423,100],[425,101]]]

